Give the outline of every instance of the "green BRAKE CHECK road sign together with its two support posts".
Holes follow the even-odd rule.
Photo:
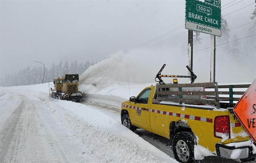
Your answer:
[[[221,36],[221,0],[186,0],[185,28],[211,34],[210,80],[215,82],[215,36]],[[193,40],[188,38],[188,42],[189,64],[193,65]]]

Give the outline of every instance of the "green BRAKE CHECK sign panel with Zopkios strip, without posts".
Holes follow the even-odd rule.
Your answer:
[[[199,0],[186,0],[185,20],[186,25],[190,24],[188,27],[186,26],[187,29],[190,29],[191,23],[198,24],[196,31],[219,36],[219,31],[221,30],[221,1],[205,0],[202,2]],[[200,29],[198,29],[199,27]],[[206,29],[207,27],[208,29]],[[210,31],[215,31],[213,29],[218,29],[218,34],[211,33]]]

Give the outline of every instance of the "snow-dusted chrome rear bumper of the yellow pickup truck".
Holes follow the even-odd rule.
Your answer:
[[[227,159],[248,160],[251,158],[256,158],[256,144],[251,141],[251,145],[248,145],[248,141],[246,141],[246,145],[241,146],[241,143],[242,142],[230,143],[229,145],[217,143],[215,144],[216,153],[218,156]]]

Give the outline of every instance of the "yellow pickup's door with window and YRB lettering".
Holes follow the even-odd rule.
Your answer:
[[[148,130],[147,127],[147,109],[148,109],[148,99],[150,96],[151,88],[143,90],[136,98],[136,103],[133,105],[132,109],[132,120],[134,120],[136,126]]]

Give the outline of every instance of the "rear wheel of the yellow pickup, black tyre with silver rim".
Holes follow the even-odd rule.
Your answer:
[[[173,155],[181,163],[201,163],[195,160],[194,156],[194,136],[191,132],[179,132],[173,138]]]

